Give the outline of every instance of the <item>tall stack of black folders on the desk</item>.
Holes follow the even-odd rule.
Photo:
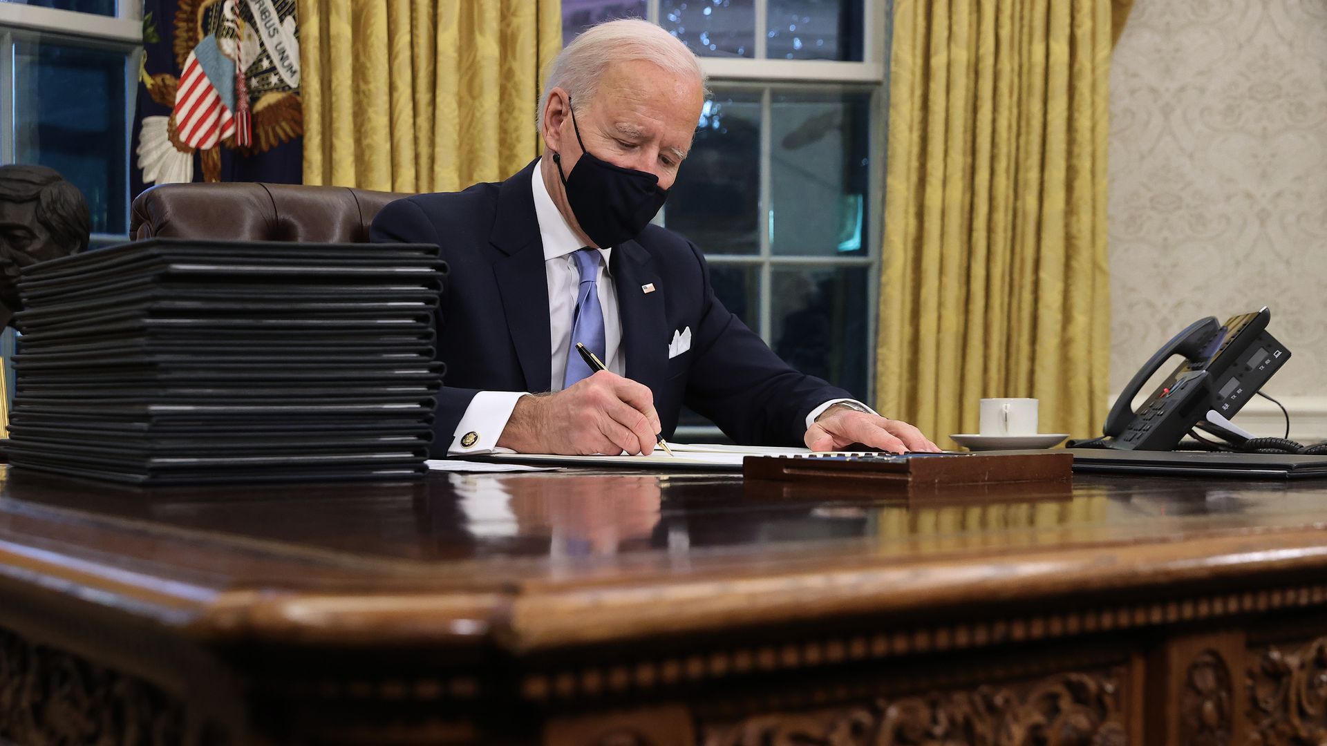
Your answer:
[[[426,473],[435,246],[151,239],[35,264],[9,462],[130,485]]]

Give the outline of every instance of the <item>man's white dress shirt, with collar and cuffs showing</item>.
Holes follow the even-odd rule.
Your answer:
[[[549,370],[552,390],[563,389],[563,380],[567,377],[567,357],[571,353],[572,320],[576,312],[576,291],[580,287],[580,271],[572,254],[584,248],[567,218],[557,210],[553,198],[544,185],[543,162],[536,163],[531,181],[535,192],[535,216],[539,219],[539,238],[544,244],[544,276],[548,283],[548,345],[552,353],[552,368]],[[612,247],[598,250],[598,304],[604,309],[604,354],[605,365],[613,373],[622,376],[626,370],[625,354],[620,349],[622,341],[622,320],[617,315],[617,288],[613,285],[613,276],[608,272],[608,260],[612,256]],[[660,342],[662,344],[662,342]],[[520,397],[529,396],[529,392],[479,392],[470,400],[470,406],[456,423],[451,435],[451,445],[447,455],[484,454],[498,449],[498,438],[502,435],[511,411],[516,408]],[[811,410],[807,415],[807,427],[815,422],[821,411],[840,401],[832,400]],[[860,404],[860,402],[857,402]],[[865,405],[863,405],[865,406]],[[476,438],[463,446],[462,438],[474,433]]]

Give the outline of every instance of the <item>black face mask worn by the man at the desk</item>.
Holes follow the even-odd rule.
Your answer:
[[[568,98],[568,109],[571,104]],[[575,110],[572,127],[576,130],[576,142],[581,146],[581,157],[572,169],[571,178],[563,173],[563,157],[557,153],[553,153],[553,163],[557,163],[557,175],[563,179],[567,203],[576,215],[576,222],[600,248],[641,235],[660,207],[664,207],[667,190],[660,188],[660,179],[654,174],[622,169],[591,155],[580,137]]]

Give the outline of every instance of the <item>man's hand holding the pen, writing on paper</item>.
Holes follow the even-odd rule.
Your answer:
[[[498,446],[516,453],[649,454],[660,430],[654,393],[600,370],[556,394],[520,397]]]

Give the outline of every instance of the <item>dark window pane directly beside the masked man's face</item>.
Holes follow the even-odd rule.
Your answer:
[[[760,251],[760,94],[715,92],[664,206],[664,224],[710,254]]]

